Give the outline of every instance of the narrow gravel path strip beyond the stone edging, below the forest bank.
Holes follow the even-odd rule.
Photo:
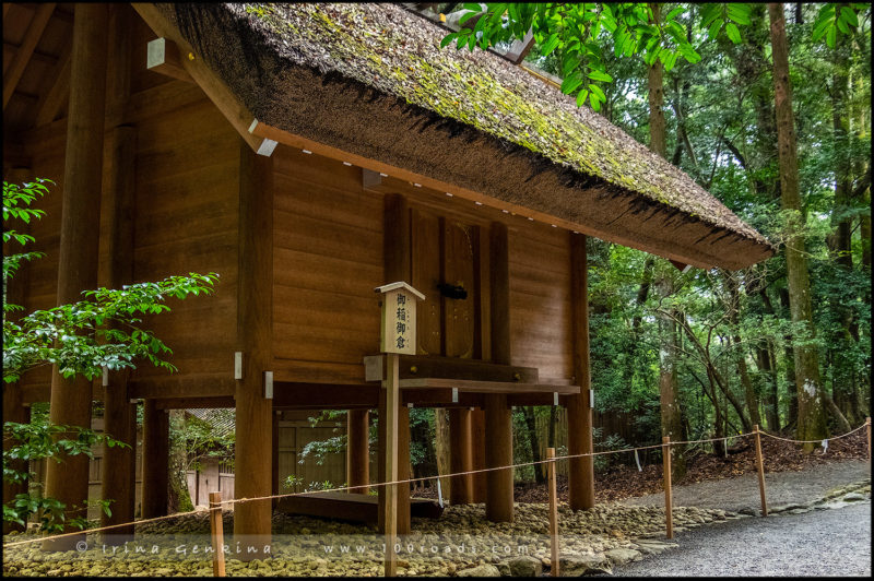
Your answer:
[[[871,464],[848,460],[814,464],[803,472],[765,473],[768,506],[810,502],[836,486],[871,477]],[[745,507],[759,508],[758,477],[745,474],[685,486],[674,486],[674,507],[698,507],[739,511]],[[664,495],[647,495],[622,500],[624,505],[664,507]]]

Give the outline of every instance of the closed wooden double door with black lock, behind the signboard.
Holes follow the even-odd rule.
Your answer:
[[[426,296],[417,312],[418,354],[482,358],[480,227],[417,208],[411,226],[412,284]],[[466,296],[447,296],[448,286]]]

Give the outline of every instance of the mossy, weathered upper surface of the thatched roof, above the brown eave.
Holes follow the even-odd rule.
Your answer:
[[[416,111],[432,114],[426,126],[437,119],[449,120],[475,134],[498,140],[505,151],[530,152],[529,165],[554,166],[564,176],[559,181],[569,188],[633,193],[637,199],[629,202],[629,208],[635,206],[635,214],[643,208],[658,208],[668,222],[675,222],[671,218],[681,215],[683,221],[708,225],[718,236],[744,239],[742,246],[756,247],[749,256],[758,258],[742,262],[758,260],[772,251],[761,235],[686,174],[600,115],[587,107],[578,108],[572,98],[495,55],[440,48],[446,31],[400,7],[345,3],[190,7],[196,5],[164,10],[186,37],[206,52],[204,58],[214,63],[232,90],[264,122],[291,124],[294,127],[285,129],[300,131],[300,127],[287,121],[287,104],[283,109],[276,103],[282,95],[275,93],[288,92],[291,99],[302,93],[290,88],[287,81],[272,79],[288,75],[276,70],[282,67],[309,69],[317,71],[326,83],[354,83],[394,97]],[[241,43],[244,48],[251,45],[244,50],[248,62],[235,64],[222,58],[225,40],[215,38],[218,29],[225,31],[225,35],[232,32],[239,35],[241,40],[237,44]],[[274,58],[265,60],[261,55],[264,51],[272,51]],[[271,85],[274,94],[258,93],[259,85]],[[555,192],[555,195],[568,193]],[[546,201],[540,209],[560,214],[552,206]],[[580,215],[563,217],[579,220]]]

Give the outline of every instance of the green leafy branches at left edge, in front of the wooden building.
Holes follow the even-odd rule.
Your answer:
[[[139,283],[121,289],[97,288],[83,293],[85,299],[61,305],[48,310],[36,310],[13,320],[22,307],[11,304],[8,286],[24,261],[43,256],[42,252],[12,252],[16,244],[24,247],[34,237],[10,227],[11,221],[29,224],[42,218],[43,210],[32,204],[48,193],[49,179],[38,178],[24,183],[3,181],[3,382],[17,381],[23,374],[45,365],[57,365],[64,378],[81,375],[94,379],[104,369],[133,368],[137,359],[146,359],[170,371],[176,368],[161,357],[172,353],[151,331],[138,323],[146,315],[169,311],[168,297],[184,299],[190,295],[211,294],[218,275],[190,273],[170,276],[157,283]],[[16,470],[16,463],[51,459],[92,455],[94,446],[128,446],[111,437],[99,435],[79,426],[52,424],[47,414],[34,413],[29,424],[5,422],[3,451],[3,482],[21,483],[34,475]],[[98,501],[110,514],[110,499]],[[87,505],[87,500],[84,501]],[[3,505],[3,521],[24,524],[31,514],[39,514],[40,529],[62,531],[67,513],[78,507],[66,507],[54,498],[20,494]],[[80,529],[87,525],[84,517],[69,523]]]

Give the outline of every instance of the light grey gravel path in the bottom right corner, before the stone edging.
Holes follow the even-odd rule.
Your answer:
[[[675,540],[677,548],[616,567],[613,574],[870,577],[871,500],[704,526]]]

